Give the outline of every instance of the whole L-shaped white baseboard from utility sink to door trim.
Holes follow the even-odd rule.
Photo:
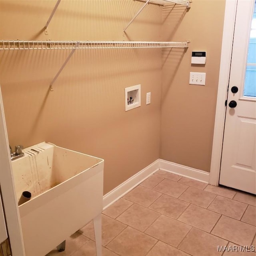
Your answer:
[[[157,170],[164,170],[166,172],[171,172],[174,174],[178,174],[180,176],[190,178],[193,180],[198,180],[204,183],[209,183],[209,172],[204,172],[202,170],[194,169],[188,166],[184,166],[181,164],[175,164],[173,162],[169,162],[166,160],[158,159],[140,172],[134,174],[131,178],[108,192],[103,196],[103,210],[105,210],[108,206],[116,202],[119,198],[124,196],[130,190],[135,188],[138,184],[140,184],[143,180],[148,178],[151,174],[156,172]]]

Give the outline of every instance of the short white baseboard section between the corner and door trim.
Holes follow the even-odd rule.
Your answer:
[[[166,160],[159,159],[159,169],[166,172],[178,174],[180,176],[209,183],[210,173],[202,170],[194,169],[181,164],[176,164]]]

